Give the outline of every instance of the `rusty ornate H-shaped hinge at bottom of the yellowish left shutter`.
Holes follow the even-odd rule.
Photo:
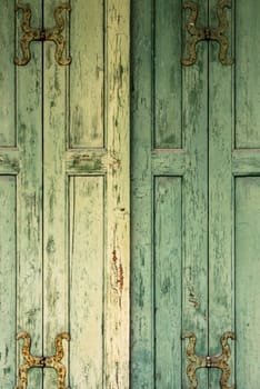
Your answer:
[[[70,340],[70,336],[67,332],[59,333],[56,337],[56,353],[51,357],[36,357],[31,355],[31,337],[28,332],[20,332],[17,336],[17,340],[23,339],[22,357],[24,363],[19,368],[20,382],[16,389],[27,389],[28,385],[28,370],[31,368],[53,368],[58,375],[58,389],[66,389],[66,367],[60,361],[64,356],[62,340]]]

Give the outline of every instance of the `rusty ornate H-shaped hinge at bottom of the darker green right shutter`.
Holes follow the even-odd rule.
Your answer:
[[[183,333],[181,339],[189,338],[189,345],[186,350],[186,355],[190,361],[190,363],[187,367],[187,376],[190,380],[190,389],[197,389],[198,387],[198,379],[196,377],[196,370],[201,368],[217,368],[222,370],[222,375],[220,378],[220,388],[221,389],[234,389],[234,385],[229,386],[228,379],[231,373],[231,368],[228,365],[228,360],[231,356],[230,346],[228,343],[228,339],[236,339],[233,332],[224,332],[220,339],[220,343],[222,346],[222,353],[219,353],[217,356],[207,356],[201,357],[196,355],[196,335],[193,332],[187,332]]]

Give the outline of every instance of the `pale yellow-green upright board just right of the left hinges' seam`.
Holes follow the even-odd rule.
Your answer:
[[[59,1],[44,1],[44,26],[54,24]],[[63,11],[64,20],[67,11]],[[66,33],[68,34],[68,23]],[[53,355],[54,338],[69,330],[68,188],[64,170],[68,67],[54,60],[53,42],[43,46],[43,355]],[[68,365],[67,345],[62,362]],[[44,369],[44,388],[57,388],[57,373]],[[68,377],[67,377],[68,378]],[[68,382],[67,382],[68,383]]]

